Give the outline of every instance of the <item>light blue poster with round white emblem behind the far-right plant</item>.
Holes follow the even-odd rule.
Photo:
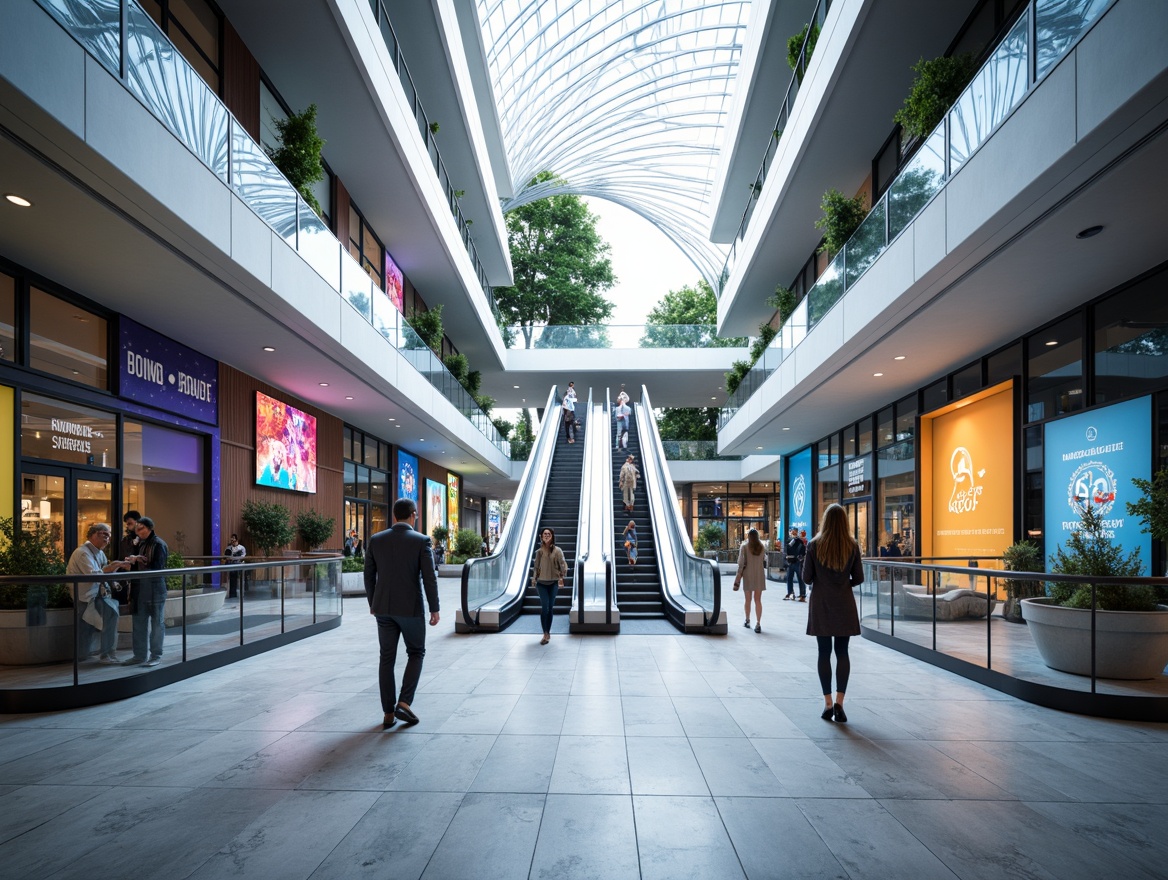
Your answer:
[[[1078,527],[1085,505],[1103,513],[1105,534],[1125,550],[1140,550],[1147,574],[1152,535],[1127,515],[1125,501],[1139,494],[1133,477],[1152,478],[1152,399],[1138,397],[1047,425],[1047,566],[1057,545]]]

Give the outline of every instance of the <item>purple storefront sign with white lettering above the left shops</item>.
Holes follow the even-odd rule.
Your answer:
[[[218,422],[218,361],[123,317],[119,383],[123,397],[189,416]]]

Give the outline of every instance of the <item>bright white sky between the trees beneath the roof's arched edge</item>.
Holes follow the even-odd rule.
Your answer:
[[[616,305],[610,324],[644,324],[666,293],[701,278],[697,266],[644,217],[606,199],[584,201],[600,217],[597,230],[612,247],[617,284],[604,293]]]

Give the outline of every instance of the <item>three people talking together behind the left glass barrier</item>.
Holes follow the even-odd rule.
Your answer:
[[[161,571],[171,555],[166,541],[154,531],[154,520],[138,511],[123,517],[123,534],[114,559],[106,555],[113,542],[113,529],[107,522],[93,522],[85,533],[85,541],[69,556],[65,573],[70,575],[103,575],[116,571]],[[118,619],[120,605],[128,605],[133,615],[133,656],[118,658]],[[142,577],[111,583],[93,581],[78,585],[79,616],[77,653],[79,659],[90,654],[95,633],[100,633],[98,663],[123,666],[158,666],[162,663],[166,610],[166,577]]]

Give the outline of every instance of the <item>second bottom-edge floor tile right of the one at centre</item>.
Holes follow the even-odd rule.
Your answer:
[[[848,880],[793,801],[718,797],[715,804],[749,880]]]

